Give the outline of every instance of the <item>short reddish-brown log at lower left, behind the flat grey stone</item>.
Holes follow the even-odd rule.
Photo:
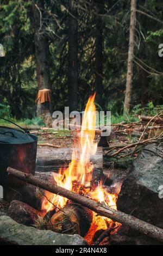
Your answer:
[[[18,223],[24,225],[34,224],[34,220],[40,212],[35,210],[32,206],[20,202],[18,200],[13,200],[10,203],[9,215]]]

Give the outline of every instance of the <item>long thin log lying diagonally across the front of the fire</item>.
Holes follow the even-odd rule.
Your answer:
[[[52,185],[47,181],[40,180],[32,174],[26,174],[11,167],[8,167],[7,171],[9,174],[20,180],[35,186],[39,186],[40,188],[43,188],[43,190],[47,190],[51,193],[66,197],[75,203],[81,204],[90,210],[95,211],[98,215],[111,218],[113,221],[120,222],[133,230],[139,231],[144,235],[153,237],[154,239],[163,242],[163,229],[159,227],[155,227],[150,223],[139,220],[138,218],[125,214],[124,212],[114,210],[105,204],[98,203],[92,199],[81,196],[80,194],[68,191],[63,187]]]

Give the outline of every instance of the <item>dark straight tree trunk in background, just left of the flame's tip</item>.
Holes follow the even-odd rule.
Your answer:
[[[68,106],[71,111],[78,108],[78,10],[70,1],[68,14]]]

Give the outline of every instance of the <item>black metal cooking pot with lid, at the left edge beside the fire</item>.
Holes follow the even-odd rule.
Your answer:
[[[36,153],[37,137],[35,135],[30,135],[26,129],[21,131],[0,126],[0,185],[20,183],[8,175],[8,167],[21,170],[24,173],[35,174]]]

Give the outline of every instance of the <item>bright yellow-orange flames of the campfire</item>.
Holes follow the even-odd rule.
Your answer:
[[[78,132],[78,139],[74,145],[72,153],[72,161],[68,168],[61,167],[59,176],[53,176],[54,182],[67,190],[86,194],[88,197],[95,199],[97,202],[105,203],[116,209],[116,194],[110,194],[104,190],[102,182],[95,190],[91,190],[91,179],[93,172],[93,164],[91,163],[92,155],[96,154],[97,143],[95,139],[96,127],[96,106],[94,103],[95,94],[90,96],[82,122],[82,129]],[[42,216],[46,215],[48,211],[54,208],[62,208],[67,203],[67,198],[61,197],[45,191],[45,197],[42,202]],[[93,215],[93,222],[89,233],[85,238],[90,242],[90,234],[95,234],[99,229],[107,229],[111,222],[108,218]]]

